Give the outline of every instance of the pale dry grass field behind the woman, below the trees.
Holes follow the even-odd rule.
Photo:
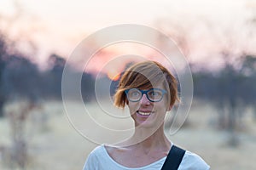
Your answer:
[[[94,125],[90,124],[91,120],[95,119],[104,127],[120,129],[127,129],[132,125],[125,111],[116,110],[108,103],[101,106],[97,103],[86,104],[85,110],[84,105],[69,102],[68,108],[69,119],[62,103],[57,101],[45,102],[40,110],[32,111],[26,121],[25,135],[29,154],[26,169],[82,169],[86,156],[97,144],[84,138],[80,133],[96,139],[99,143],[108,142],[109,138],[110,141],[114,140],[108,133],[100,133],[101,128],[93,127]],[[115,113],[104,116],[106,114],[103,112],[107,110],[108,113]],[[90,112],[91,117],[85,116],[86,111]],[[116,114],[120,114],[121,118],[116,118]],[[170,139],[186,150],[199,154],[212,169],[255,169],[256,122],[253,122],[252,113],[248,112],[243,118],[243,130],[236,132],[240,140],[236,148],[227,144],[229,133],[211,126],[215,116],[216,113],[210,105],[193,105],[186,126],[170,136]],[[69,120],[73,121],[73,125]],[[0,135],[0,147],[9,148],[11,139],[7,119],[0,119]],[[0,169],[19,169],[11,167],[10,164],[12,162],[0,152]]]

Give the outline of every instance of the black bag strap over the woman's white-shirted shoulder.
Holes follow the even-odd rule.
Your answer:
[[[161,170],[177,170],[179,164],[183,160],[185,152],[186,150],[183,150],[173,144]]]

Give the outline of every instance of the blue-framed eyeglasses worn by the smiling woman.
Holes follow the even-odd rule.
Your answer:
[[[146,94],[147,98],[151,102],[158,102],[163,99],[166,90],[160,88],[150,88],[148,90],[141,90],[137,88],[130,88],[125,90],[127,99],[132,102],[137,102],[143,98],[143,94]]]

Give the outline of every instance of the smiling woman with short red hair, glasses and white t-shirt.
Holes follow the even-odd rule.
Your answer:
[[[166,138],[164,119],[176,101],[177,81],[163,65],[154,61],[132,65],[120,79],[114,105],[121,108],[128,105],[134,133],[118,146],[96,147],[84,170],[160,170],[166,162],[171,166],[176,163],[173,169],[178,170],[210,169],[200,156],[189,151],[179,149],[183,153],[178,162],[176,155],[168,156],[177,147]]]

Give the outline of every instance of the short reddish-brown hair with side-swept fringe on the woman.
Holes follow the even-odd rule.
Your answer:
[[[163,65],[155,61],[143,61],[128,68],[119,82],[119,88],[114,95],[114,105],[124,108],[127,103],[125,90],[129,88],[153,88],[162,83],[168,94],[170,105],[179,101],[177,95],[177,80]]]

